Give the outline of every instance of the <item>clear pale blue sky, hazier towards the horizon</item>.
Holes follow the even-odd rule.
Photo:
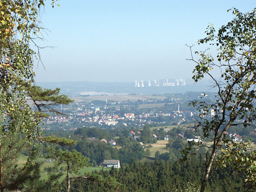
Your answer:
[[[41,50],[46,70],[35,66],[36,81],[190,79],[194,64],[186,61],[185,44],[204,38],[209,22],[219,28],[230,21],[227,9],[256,7],[255,0],[58,2],[60,7],[46,5],[42,14],[50,32],[39,45],[55,48]]]

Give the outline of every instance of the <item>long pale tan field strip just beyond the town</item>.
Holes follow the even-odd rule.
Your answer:
[[[122,102],[122,101],[137,101],[140,100],[146,100],[146,99],[165,99],[166,96],[155,96],[155,95],[113,95],[113,96],[75,96],[70,97],[70,99],[74,99],[75,102],[92,102],[95,100],[105,101],[111,100],[116,102]]]

